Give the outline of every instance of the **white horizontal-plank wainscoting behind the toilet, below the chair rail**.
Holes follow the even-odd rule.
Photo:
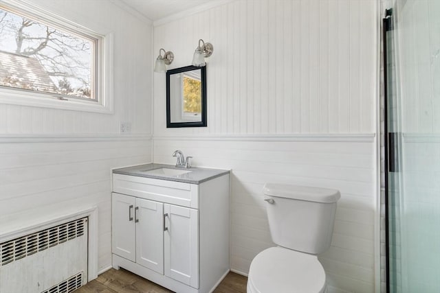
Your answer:
[[[267,182],[339,189],[331,248],[320,256],[331,292],[374,292],[375,139],[246,141],[155,137],[155,163],[174,164],[174,150],[200,167],[231,169],[231,268],[247,274],[270,238],[262,189]],[[316,137],[314,138],[316,139]]]

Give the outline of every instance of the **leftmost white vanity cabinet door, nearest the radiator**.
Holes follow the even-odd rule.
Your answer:
[[[135,261],[135,198],[123,194],[111,195],[112,252]]]

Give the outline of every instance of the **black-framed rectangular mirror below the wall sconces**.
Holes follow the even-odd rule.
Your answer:
[[[206,127],[206,66],[166,71],[166,128]]]

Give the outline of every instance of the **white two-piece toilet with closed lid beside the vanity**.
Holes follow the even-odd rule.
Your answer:
[[[327,292],[316,255],[331,244],[339,191],[267,183],[263,193],[270,234],[278,246],[252,260],[248,293]]]

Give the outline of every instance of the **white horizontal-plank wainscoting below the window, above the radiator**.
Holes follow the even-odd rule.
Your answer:
[[[111,169],[151,163],[151,139],[87,139],[0,143],[0,226],[41,208],[96,206],[102,270],[111,266]]]

